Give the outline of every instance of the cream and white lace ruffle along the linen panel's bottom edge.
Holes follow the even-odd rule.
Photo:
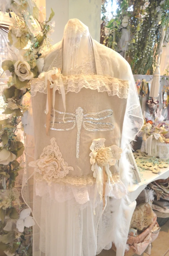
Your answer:
[[[119,173],[112,174],[114,183],[106,183],[106,196],[114,197],[116,199],[122,198],[126,194],[126,189],[123,187],[123,183],[120,180]],[[94,197],[96,179],[93,175],[73,177],[65,176],[60,179],[52,181],[51,186],[45,182],[42,175],[35,173],[35,189],[36,195],[43,196],[46,192],[52,199],[58,202],[65,202],[74,198],[76,202],[80,204],[87,203]],[[97,201],[100,202],[100,196],[98,194]]]

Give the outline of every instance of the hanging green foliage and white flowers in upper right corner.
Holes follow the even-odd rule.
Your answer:
[[[153,74],[169,23],[169,0],[118,0],[116,4],[115,9],[113,0],[102,5],[103,44],[120,53],[133,74]]]

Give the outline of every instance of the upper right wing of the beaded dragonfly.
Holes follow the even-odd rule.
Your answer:
[[[99,121],[112,116],[112,114],[113,114],[112,109],[105,109],[100,112],[86,113],[84,114],[84,120],[89,119],[89,120]]]

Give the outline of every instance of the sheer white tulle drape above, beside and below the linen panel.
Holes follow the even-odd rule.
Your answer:
[[[136,85],[129,64],[118,53],[93,40],[83,23],[72,19],[65,27],[62,41],[55,45],[53,51],[45,58],[44,71],[53,67],[61,68],[64,76],[97,74],[129,81],[121,143],[123,153],[119,162],[120,177],[127,188],[132,177],[126,156],[127,145],[143,124]],[[26,168],[22,196],[32,209],[36,222],[33,227],[33,256],[95,256],[102,249],[111,248],[111,242],[117,247],[125,247],[127,226],[124,211],[129,205],[127,196],[118,199],[110,197],[107,193],[106,207],[103,210],[99,195],[94,203],[95,184],[88,185],[85,189],[83,186],[78,188],[81,203],[73,193],[66,194],[66,189],[69,188],[63,184],[60,185],[59,191],[66,195],[65,200],[57,200],[58,194],[53,184],[47,190],[43,183],[39,183],[39,191],[42,193],[37,193],[37,181],[33,181],[34,170],[28,167],[29,162],[34,159],[32,115],[31,111],[29,112],[30,131],[27,128],[25,136]],[[51,191],[54,196],[51,196]]]

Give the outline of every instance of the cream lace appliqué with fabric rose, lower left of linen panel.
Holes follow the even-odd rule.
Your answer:
[[[73,167],[68,166],[67,162],[62,158],[59,151],[59,146],[56,139],[50,140],[51,145],[44,148],[40,158],[29,163],[29,166],[34,167],[43,179],[50,185],[51,182],[58,178],[63,178],[69,171],[73,171]]]

